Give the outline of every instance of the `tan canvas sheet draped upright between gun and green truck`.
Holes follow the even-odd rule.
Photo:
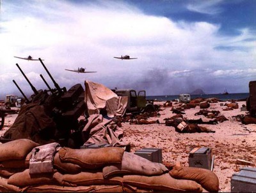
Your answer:
[[[88,115],[99,114],[101,109],[106,109],[108,117],[124,115],[127,106],[127,97],[120,97],[112,90],[100,83],[86,80],[84,103],[88,108]]]

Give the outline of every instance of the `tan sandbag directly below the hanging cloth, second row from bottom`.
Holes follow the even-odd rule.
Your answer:
[[[20,173],[15,173],[8,179],[8,184],[16,185],[19,187],[44,183],[56,184],[56,181],[54,178],[52,178],[52,175],[49,174],[29,175],[29,169],[26,169]]]

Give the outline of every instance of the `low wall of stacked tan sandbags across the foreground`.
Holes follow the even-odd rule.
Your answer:
[[[196,182],[193,175],[186,176],[186,168],[176,168],[171,173],[163,164],[124,152],[119,147],[60,147],[54,152],[52,173],[32,175],[29,161],[31,152],[38,147],[29,139],[0,144],[1,192],[202,192],[207,176],[215,176],[207,171],[204,179]],[[218,181],[214,178],[214,182],[216,179]],[[218,187],[211,191],[216,192],[216,189],[218,191]]]

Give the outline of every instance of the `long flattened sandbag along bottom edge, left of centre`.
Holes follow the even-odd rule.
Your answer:
[[[40,185],[35,187],[26,187],[22,189],[22,192],[124,192],[124,190],[122,185],[91,185],[79,187]]]

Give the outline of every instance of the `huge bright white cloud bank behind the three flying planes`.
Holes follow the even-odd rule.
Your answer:
[[[205,2],[206,8],[217,6],[212,1]],[[138,82],[143,82],[143,87],[150,89],[152,84],[145,79],[153,69],[159,70],[154,77],[159,84],[164,85],[163,80],[169,82],[168,79],[177,77],[180,84],[195,82],[193,84],[196,87],[196,84],[202,84],[197,78],[214,78],[222,72],[231,69],[237,69],[238,72],[255,64],[255,41],[248,41],[255,34],[250,29],[241,29],[238,36],[220,36],[219,24],[174,22],[165,17],[145,15],[138,8],[122,1],[22,3],[26,6],[26,12],[20,11],[19,6],[5,3],[8,9],[3,11],[6,20],[1,20],[3,32],[0,32],[0,63],[3,66],[0,78],[12,72],[20,77],[22,86],[28,83],[20,76],[16,62],[19,62],[36,88],[44,85],[40,74],[50,84],[51,80],[40,62],[22,61],[13,58],[14,55],[45,59],[44,64],[56,82],[67,88],[76,83],[83,84],[88,79],[109,87],[121,82],[131,84],[127,87],[134,87],[140,85]],[[239,48],[231,51],[216,48],[221,46]],[[113,59],[113,56],[125,54],[138,59]],[[98,73],[76,74],[64,70],[78,67]],[[195,75],[197,77],[193,78]],[[241,81],[246,82],[247,79]],[[247,85],[247,82],[244,84]],[[15,86],[11,85],[15,90]],[[151,90],[154,92],[154,89]],[[166,90],[163,88],[159,93]]]

